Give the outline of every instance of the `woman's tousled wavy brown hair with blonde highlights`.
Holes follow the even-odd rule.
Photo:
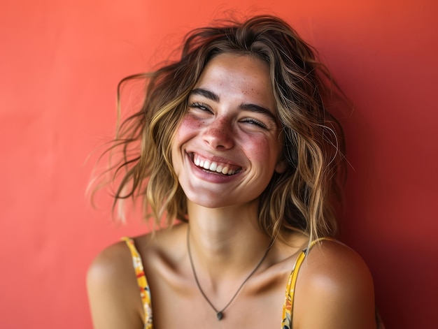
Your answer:
[[[226,20],[190,31],[178,61],[146,78],[146,96],[134,115],[118,127],[107,152],[121,150],[110,165],[118,178],[114,206],[121,199],[141,199],[146,219],[171,226],[187,220],[187,205],[171,163],[171,142],[188,108],[188,96],[211,58],[221,53],[246,54],[269,66],[276,111],[284,136],[288,168],[274,173],[260,196],[260,228],[274,237],[290,230],[311,239],[334,235],[332,196],[339,196],[346,173],[344,135],[327,108],[343,95],[316,51],[286,22],[259,15],[244,22]],[[120,115],[120,114],[119,114]]]

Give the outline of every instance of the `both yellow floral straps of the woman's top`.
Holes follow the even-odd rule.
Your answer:
[[[328,237],[323,237],[324,240],[332,240]],[[143,309],[145,314],[144,319],[144,329],[153,329],[152,321],[152,304],[150,302],[150,290],[148,285],[148,280],[146,280],[146,275],[143,269],[143,263],[139,251],[137,251],[134,240],[129,237],[123,237],[129,247],[132,254],[132,263],[134,265],[135,274],[137,277],[137,284],[139,285],[141,301],[143,302]],[[322,240],[322,239],[319,239]],[[313,241],[309,247],[313,247],[319,240]],[[292,272],[289,275],[288,284],[286,286],[285,302],[283,304],[283,320],[281,321],[281,329],[292,329],[292,309],[295,293],[295,284],[297,283],[298,271],[301,264],[306,258],[307,249],[301,251],[295,261],[295,265],[292,268]]]

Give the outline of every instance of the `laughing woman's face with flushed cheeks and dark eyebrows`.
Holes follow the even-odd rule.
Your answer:
[[[274,171],[285,170],[277,122],[267,64],[240,54],[211,59],[172,146],[188,202],[219,208],[257,199]]]

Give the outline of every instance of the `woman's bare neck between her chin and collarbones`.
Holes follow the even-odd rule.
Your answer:
[[[199,279],[213,289],[255,268],[270,238],[257,223],[257,202],[244,207],[209,209],[189,203],[190,249]]]

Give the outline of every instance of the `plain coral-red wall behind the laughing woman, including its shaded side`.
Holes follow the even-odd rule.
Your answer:
[[[85,159],[113,132],[122,77],[147,71],[222,10],[266,8],[209,3],[2,1],[1,328],[91,328],[87,265],[147,228],[111,224],[108,199],[91,209]],[[355,103],[342,118],[353,167],[342,236],[369,263],[387,327],[436,328],[438,2],[269,3]]]

